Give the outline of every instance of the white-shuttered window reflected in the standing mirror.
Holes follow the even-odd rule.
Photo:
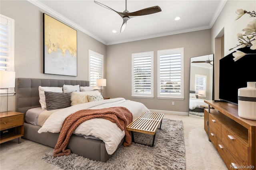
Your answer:
[[[198,94],[199,97],[206,97],[206,75],[195,75],[196,77],[196,94]]]

